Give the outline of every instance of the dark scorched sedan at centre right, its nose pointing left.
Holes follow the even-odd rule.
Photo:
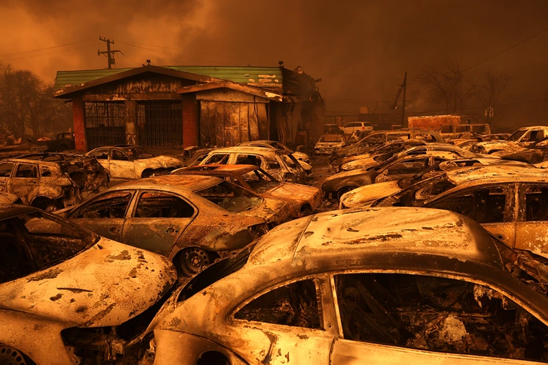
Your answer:
[[[340,199],[345,192],[360,186],[405,179],[440,162],[458,159],[460,156],[456,153],[443,151],[425,151],[421,155],[394,156],[377,166],[331,175],[323,181],[321,189],[327,197],[332,196]]]

